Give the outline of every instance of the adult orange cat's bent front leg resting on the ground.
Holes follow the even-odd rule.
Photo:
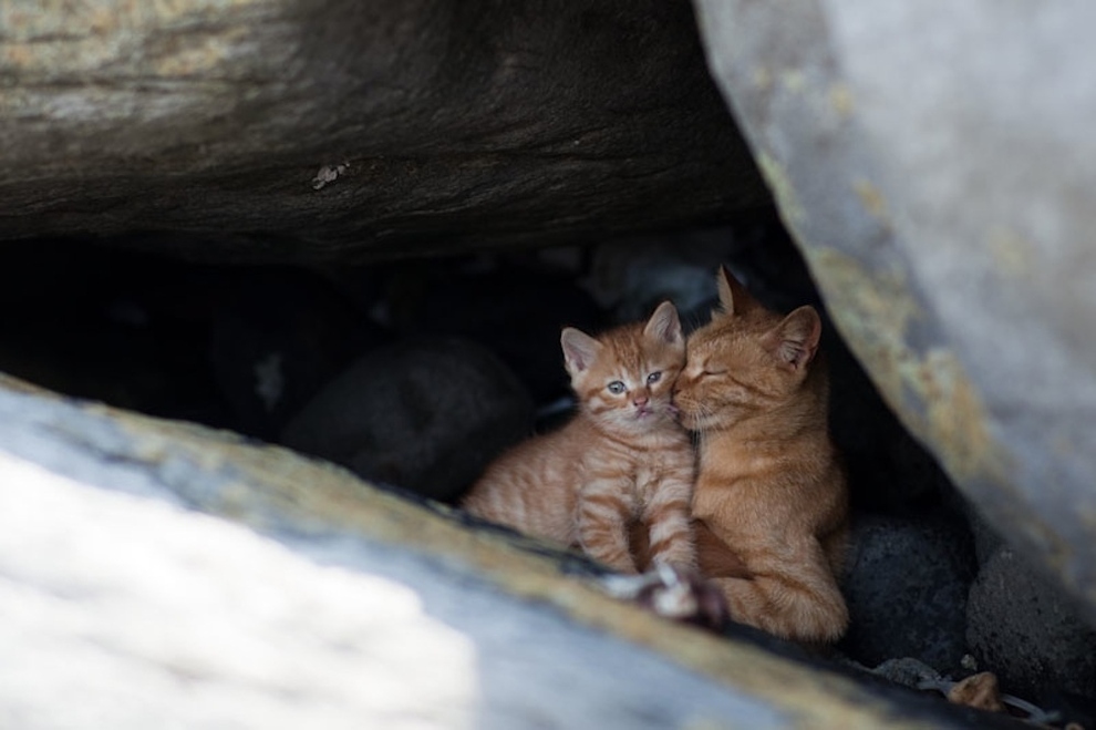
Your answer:
[[[741,553],[749,578],[715,578],[731,618],[775,636],[830,644],[845,633],[848,607],[816,539],[772,541]]]

